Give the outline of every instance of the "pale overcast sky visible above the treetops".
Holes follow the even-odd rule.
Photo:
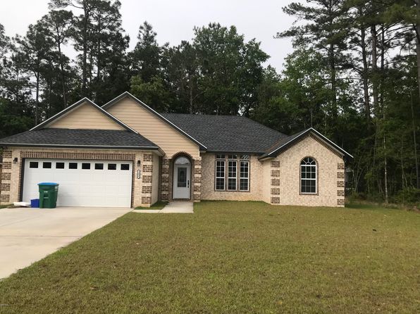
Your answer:
[[[281,8],[291,0],[120,0],[123,28],[130,35],[130,49],[137,42],[139,26],[147,20],[157,33],[159,44],[171,46],[193,37],[194,26],[218,22],[235,25],[237,32],[261,42],[271,58],[267,64],[278,71],[283,68],[285,56],[292,52],[290,39],[275,39],[276,32],[287,30],[293,18]],[[27,26],[48,12],[49,0],[1,1],[0,23],[6,35],[25,34]],[[72,54],[72,51],[68,51]]]

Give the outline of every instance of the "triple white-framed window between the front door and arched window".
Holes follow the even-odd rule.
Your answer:
[[[216,154],[216,191],[249,191],[249,155]]]

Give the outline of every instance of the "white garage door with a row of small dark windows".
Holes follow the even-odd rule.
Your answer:
[[[40,182],[56,182],[57,206],[131,207],[132,162],[25,159],[23,201]]]

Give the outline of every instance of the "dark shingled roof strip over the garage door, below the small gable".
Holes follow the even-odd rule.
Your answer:
[[[0,146],[47,146],[89,148],[142,148],[159,149],[159,146],[142,135],[119,130],[42,129],[27,131],[0,139]]]

